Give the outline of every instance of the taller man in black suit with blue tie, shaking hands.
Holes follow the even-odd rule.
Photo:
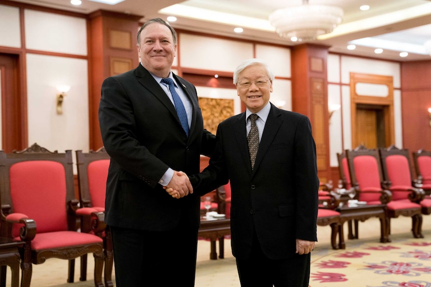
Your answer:
[[[117,287],[194,286],[200,198],[174,171],[198,173],[215,136],[203,130],[195,87],[171,72],[175,50],[173,28],[148,20],[137,34],[138,67],[101,87],[99,123],[111,158],[105,222]]]

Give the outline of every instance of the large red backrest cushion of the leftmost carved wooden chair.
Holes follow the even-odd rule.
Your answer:
[[[24,161],[9,169],[13,212],[36,223],[37,233],[67,230],[66,180],[62,164]]]

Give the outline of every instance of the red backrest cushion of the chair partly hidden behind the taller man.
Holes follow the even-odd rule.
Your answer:
[[[104,209],[108,168],[108,159],[96,160],[88,164],[88,191],[92,207],[102,207]]]

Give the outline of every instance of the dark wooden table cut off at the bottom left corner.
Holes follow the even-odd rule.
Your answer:
[[[0,286],[6,286],[6,266],[11,270],[11,287],[19,286],[19,261],[18,248],[23,246],[23,241],[13,241],[8,238],[0,238]]]

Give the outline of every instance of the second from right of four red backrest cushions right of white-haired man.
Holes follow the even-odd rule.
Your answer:
[[[387,156],[385,164],[391,186],[411,186],[410,166],[405,156]],[[392,200],[406,199],[407,195],[406,192],[392,190]]]

